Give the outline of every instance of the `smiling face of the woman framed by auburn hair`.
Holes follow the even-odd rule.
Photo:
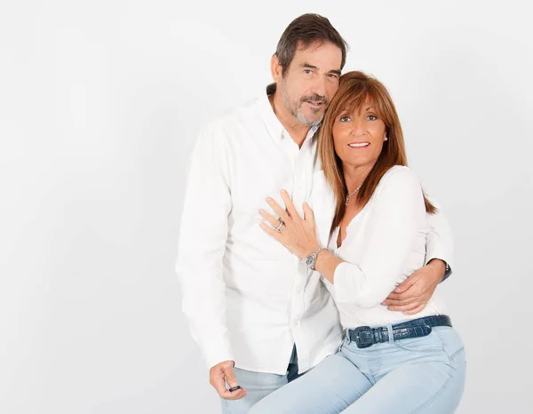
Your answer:
[[[341,112],[333,123],[335,152],[345,166],[372,168],[385,138],[385,123],[369,100],[354,114]]]

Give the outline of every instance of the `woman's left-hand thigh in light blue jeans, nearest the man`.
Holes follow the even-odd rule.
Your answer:
[[[337,414],[370,386],[370,380],[354,363],[341,354],[334,354],[302,377],[267,395],[249,414]]]

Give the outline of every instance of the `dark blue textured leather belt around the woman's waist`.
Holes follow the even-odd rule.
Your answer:
[[[396,323],[393,325],[393,340],[426,337],[431,333],[431,329],[434,326],[451,326],[449,316],[441,314]],[[368,348],[369,346],[389,341],[389,331],[386,326],[378,328],[360,326],[354,330],[346,330],[346,335],[350,341],[354,341],[357,344],[358,348]]]

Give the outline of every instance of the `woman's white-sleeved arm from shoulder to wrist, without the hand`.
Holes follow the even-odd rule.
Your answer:
[[[341,262],[326,253],[317,258],[315,268],[335,285],[339,303],[378,306],[394,290],[419,232],[426,227],[424,197],[414,171],[399,168],[385,179],[371,206],[362,261]]]

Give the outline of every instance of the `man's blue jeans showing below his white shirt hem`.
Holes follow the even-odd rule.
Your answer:
[[[252,372],[235,368],[235,377],[239,385],[246,389],[247,395],[240,400],[221,400],[223,414],[246,414],[251,409],[251,406],[259,402],[260,399],[298,378],[296,346],[292,350],[285,375],[266,374],[264,372]]]

